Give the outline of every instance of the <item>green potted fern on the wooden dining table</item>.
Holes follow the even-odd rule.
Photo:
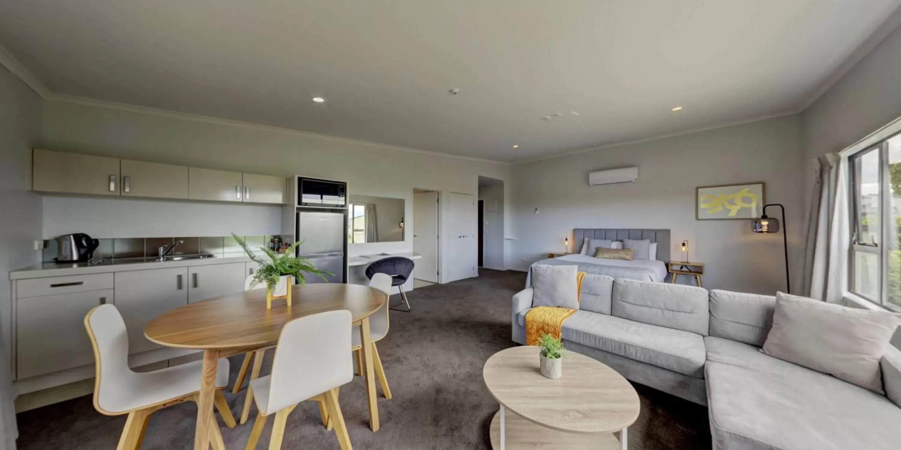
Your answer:
[[[295,249],[303,243],[297,241],[287,247],[285,253],[279,255],[267,247],[259,247],[269,257],[270,261],[259,257],[243,238],[232,233],[234,240],[244,249],[250,259],[259,264],[259,269],[253,274],[253,284],[266,284],[266,308],[272,308],[272,300],[284,298],[287,304],[291,304],[291,284],[306,284],[306,274],[318,275],[326,280],[325,275],[332,275],[324,270],[319,270],[309,259],[296,257]],[[328,280],[326,280],[328,281]]]

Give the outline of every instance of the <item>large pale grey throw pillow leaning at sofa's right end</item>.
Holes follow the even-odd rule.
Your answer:
[[[773,327],[763,351],[885,394],[879,360],[899,324],[901,315],[893,312],[777,293]]]

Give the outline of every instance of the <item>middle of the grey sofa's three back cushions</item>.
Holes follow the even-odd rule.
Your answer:
[[[617,279],[611,312],[616,317],[707,335],[707,290],[682,284]]]

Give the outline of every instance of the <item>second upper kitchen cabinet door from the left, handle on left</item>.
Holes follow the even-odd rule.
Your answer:
[[[123,196],[187,199],[187,166],[122,160]]]

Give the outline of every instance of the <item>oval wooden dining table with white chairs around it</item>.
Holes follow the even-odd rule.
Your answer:
[[[219,358],[275,345],[288,321],[326,311],[350,311],[353,324],[359,325],[369,428],[378,431],[369,316],[387,302],[387,296],[361,284],[295,285],[291,288],[291,296],[291,306],[285,301],[275,301],[272,309],[267,310],[265,289],[231,293],[168,311],[151,320],[144,329],[144,336],[159,345],[204,351],[195,450],[207,450],[210,429],[218,427],[213,403]]]

